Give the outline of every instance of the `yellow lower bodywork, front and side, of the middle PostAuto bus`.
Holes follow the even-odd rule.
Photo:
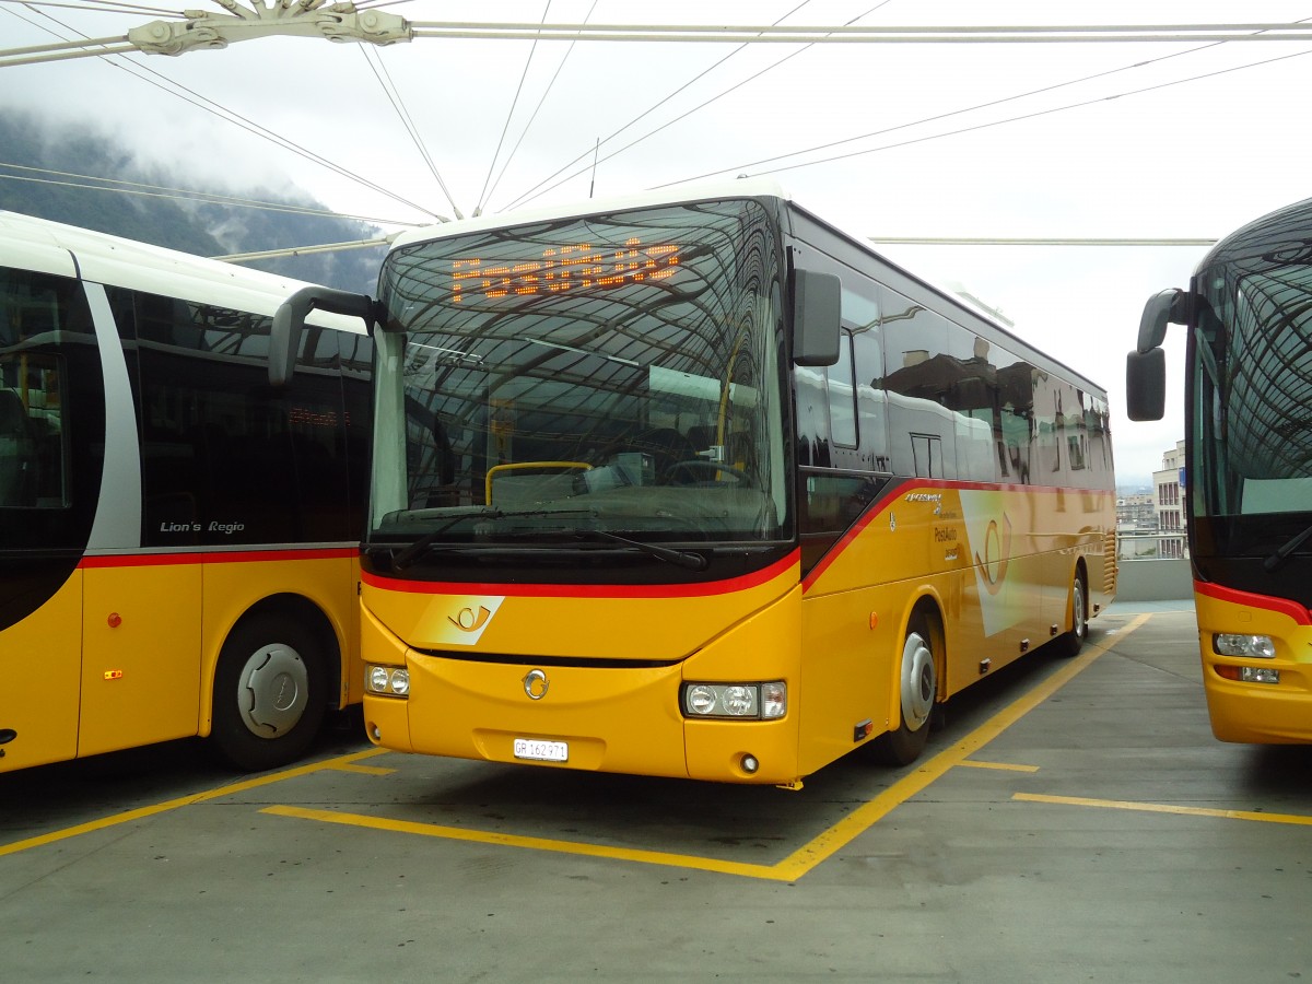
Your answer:
[[[796,564],[665,597],[366,579],[363,660],[407,666],[411,684],[404,699],[366,694],[366,727],[407,752],[512,762],[516,737],[539,739],[568,745],[567,768],[790,783],[861,744],[865,724],[897,727],[917,604],[943,625],[939,699],[1068,631],[1080,563],[1094,613],[1113,517],[1111,493],[908,483],[803,581]],[[626,665],[644,661],[659,665]],[[548,681],[539,699],[533,669]],[[686,681],[773,680],[789,687],[777,722],[678,706]]]

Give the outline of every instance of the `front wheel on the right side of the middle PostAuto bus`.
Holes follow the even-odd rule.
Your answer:
[[[939,711],[943,656],[942,613],[932,598],[921,598],[907,618],[897,657],[897,726],[874,743],[886,765],[909,765],[925,750]]]

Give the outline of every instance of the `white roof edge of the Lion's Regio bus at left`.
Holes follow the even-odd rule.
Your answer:
[[[70,269],[67,262],[59,262],[58,253],[71,255],[76,266]],[[14,211],[0,211],[0,264],[80,276],[94,283],[265,316],[308,286],[291,277]],[[356,335],[365,331],[359,319],[321,311],[311,312],[308,320]]]

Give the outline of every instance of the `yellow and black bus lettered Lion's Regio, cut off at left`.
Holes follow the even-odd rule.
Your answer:
[[[0,771],[206,736],[243,769],[361,698],[373,344],[304,285],[0,213]]]

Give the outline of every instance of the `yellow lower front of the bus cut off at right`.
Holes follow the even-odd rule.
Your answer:
[[[1270,604],[1239,592],[1200,589],[1194,594],[1207,712],[1221,741],[1312,743],[1312,619],[1300,606]],[[1218,632],[1269,635],[1275,659],[1220,656],[1212,646]],[[1245,665],[1279,670],[1281,682],[1241,684],[1216,672],[1218,666]]]

